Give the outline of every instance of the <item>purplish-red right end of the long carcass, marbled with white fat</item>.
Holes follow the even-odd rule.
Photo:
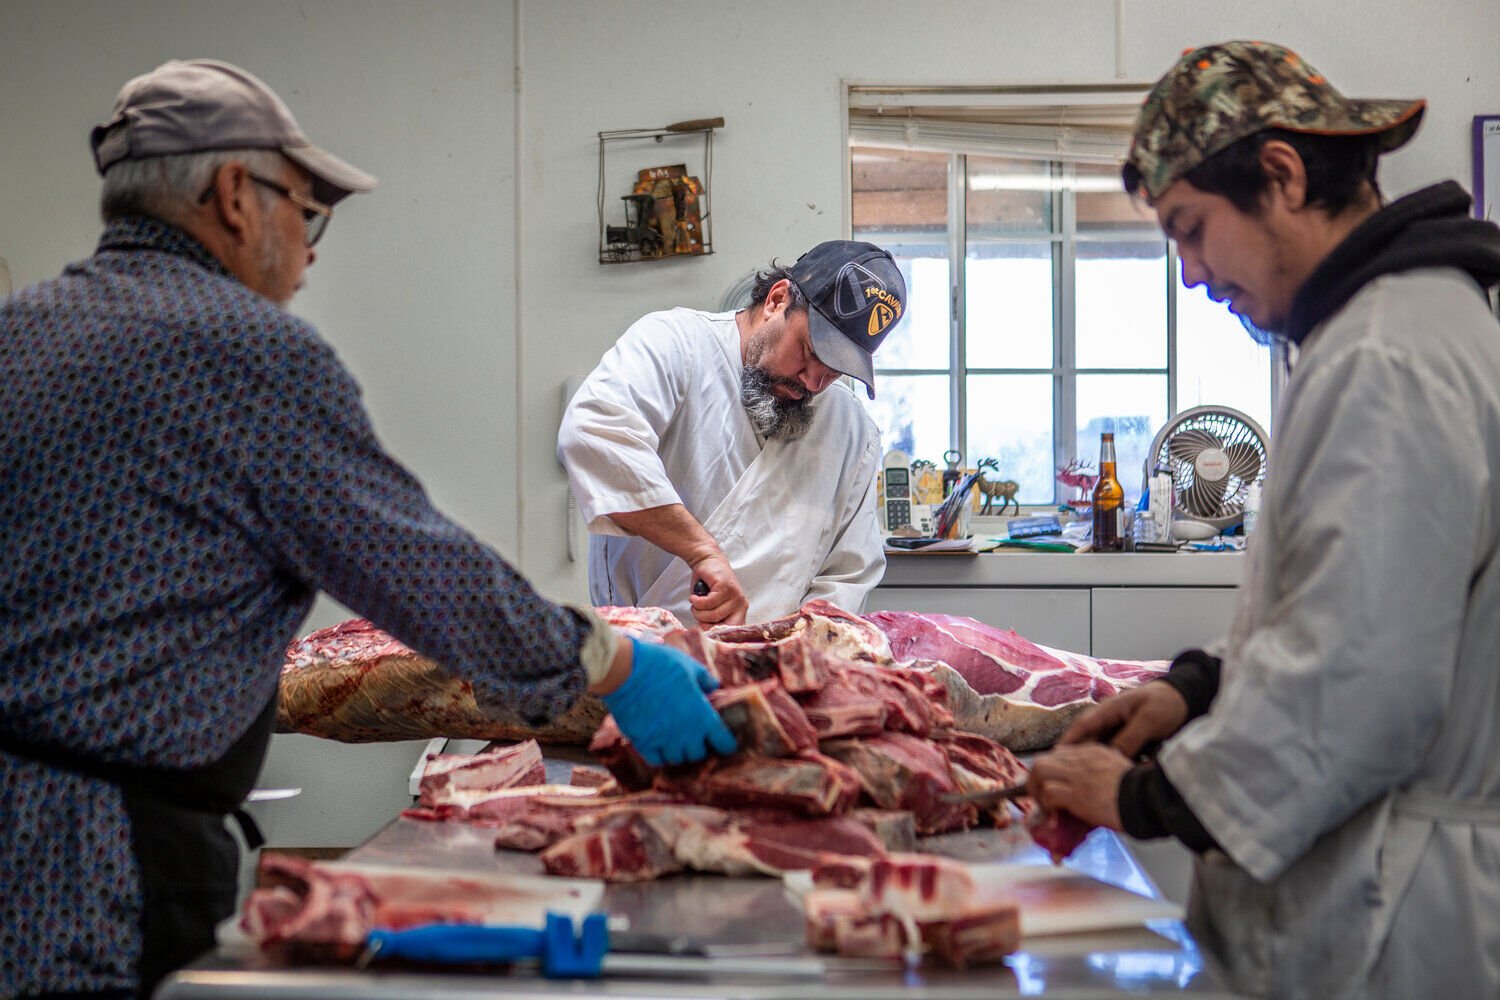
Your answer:
[[[1052,747],[1083,709],[1170,666],[1164,660],[1095,660],[954,615],[873,612],[867,618],[897,660],[916,661],[948,690],[956,729],[1016,751]]]

